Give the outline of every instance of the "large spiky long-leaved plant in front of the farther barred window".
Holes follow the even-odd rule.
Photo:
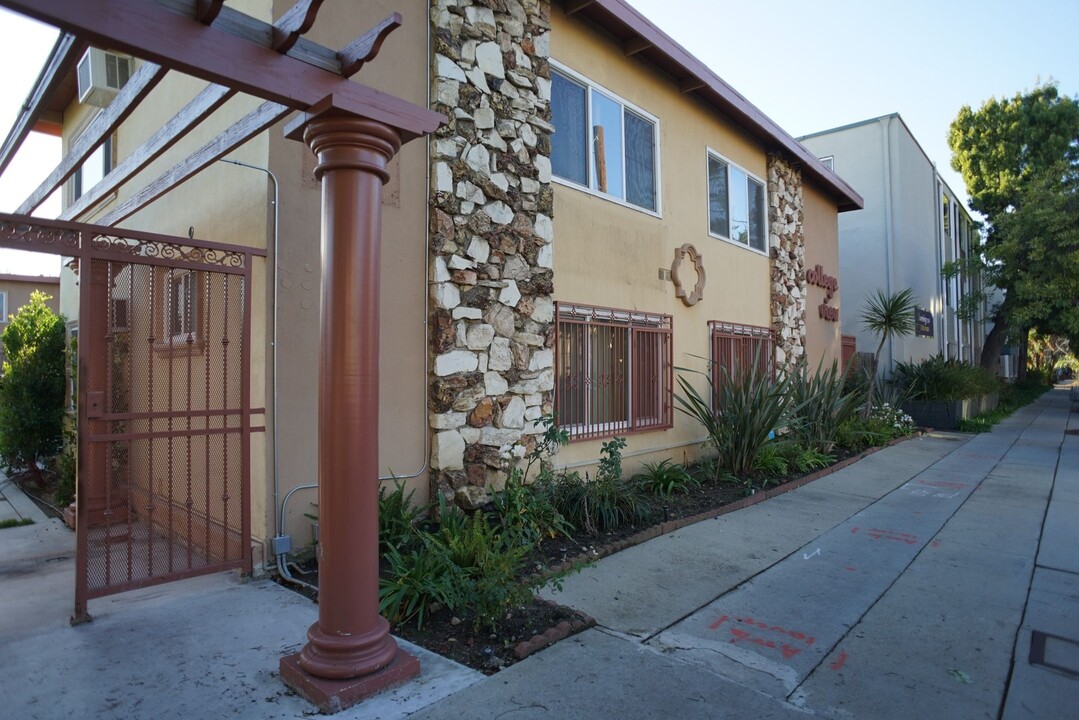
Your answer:
[[[790,376],[774,380],[757,362],[734,376],[726,367],[721,367],[720,373],[716,389],[708,375],[698,372],[715,397],[714,411],[708,398],[684,376],[678,378],[682,392],[675,393],[674,399],[679,410],[697,420],[708,433],[718,452],[719,468],[745,477],[753,473],[754,461],[769,435],[791,420],[792,381]]]

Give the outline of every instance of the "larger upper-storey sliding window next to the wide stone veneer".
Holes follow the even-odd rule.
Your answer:
[[[554,175],[658,213],[658,120],[569,69],[550,78]]]

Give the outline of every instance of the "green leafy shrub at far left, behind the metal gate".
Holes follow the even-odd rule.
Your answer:
[[[38,487],[44,486],[38,461],[64,440],[65,323],[45,304],[49,299],[33,291],[0,338],[0,462],[29,472]]]

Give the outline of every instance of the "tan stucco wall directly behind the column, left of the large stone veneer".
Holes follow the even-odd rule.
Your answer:
[[[274,3],[274,16],[292,2]],[[427,104],[427,5],[422,0],[326,3],[306,38],[343,47],[393,12],[402,26],[355,80],[416,105]],[[282,497],[317,480],[317,369],[320,184],[314,157],[301,142],[269,133],[270,165],[281,180],[278,253],[278,437]],[[382,354],[379,466],[383,475],[412,475],[408,487],[426,501],[426,141],[407,144],[391,163],[382,204]],[[423,472],[420,472],[423,471]],[[385,481],[392,487],[392,483]],[[268,491],[271,491],[268,489]],[[314,490],[288,503],[293,546],[310,542]]]

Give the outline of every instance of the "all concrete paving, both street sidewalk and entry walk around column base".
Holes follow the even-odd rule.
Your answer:
[[[419,681],[338,717],[1075,717],[1070,410],[1049,393],[991,434],[913,439],[618,553],[552,596],[597,628],[490,678],[412,649]],[[315,619],[304,598],[214,575],[94,600],[69,627],[72,546],[59,525],[0,531],[5,717],[313,714],[276,677]]]

